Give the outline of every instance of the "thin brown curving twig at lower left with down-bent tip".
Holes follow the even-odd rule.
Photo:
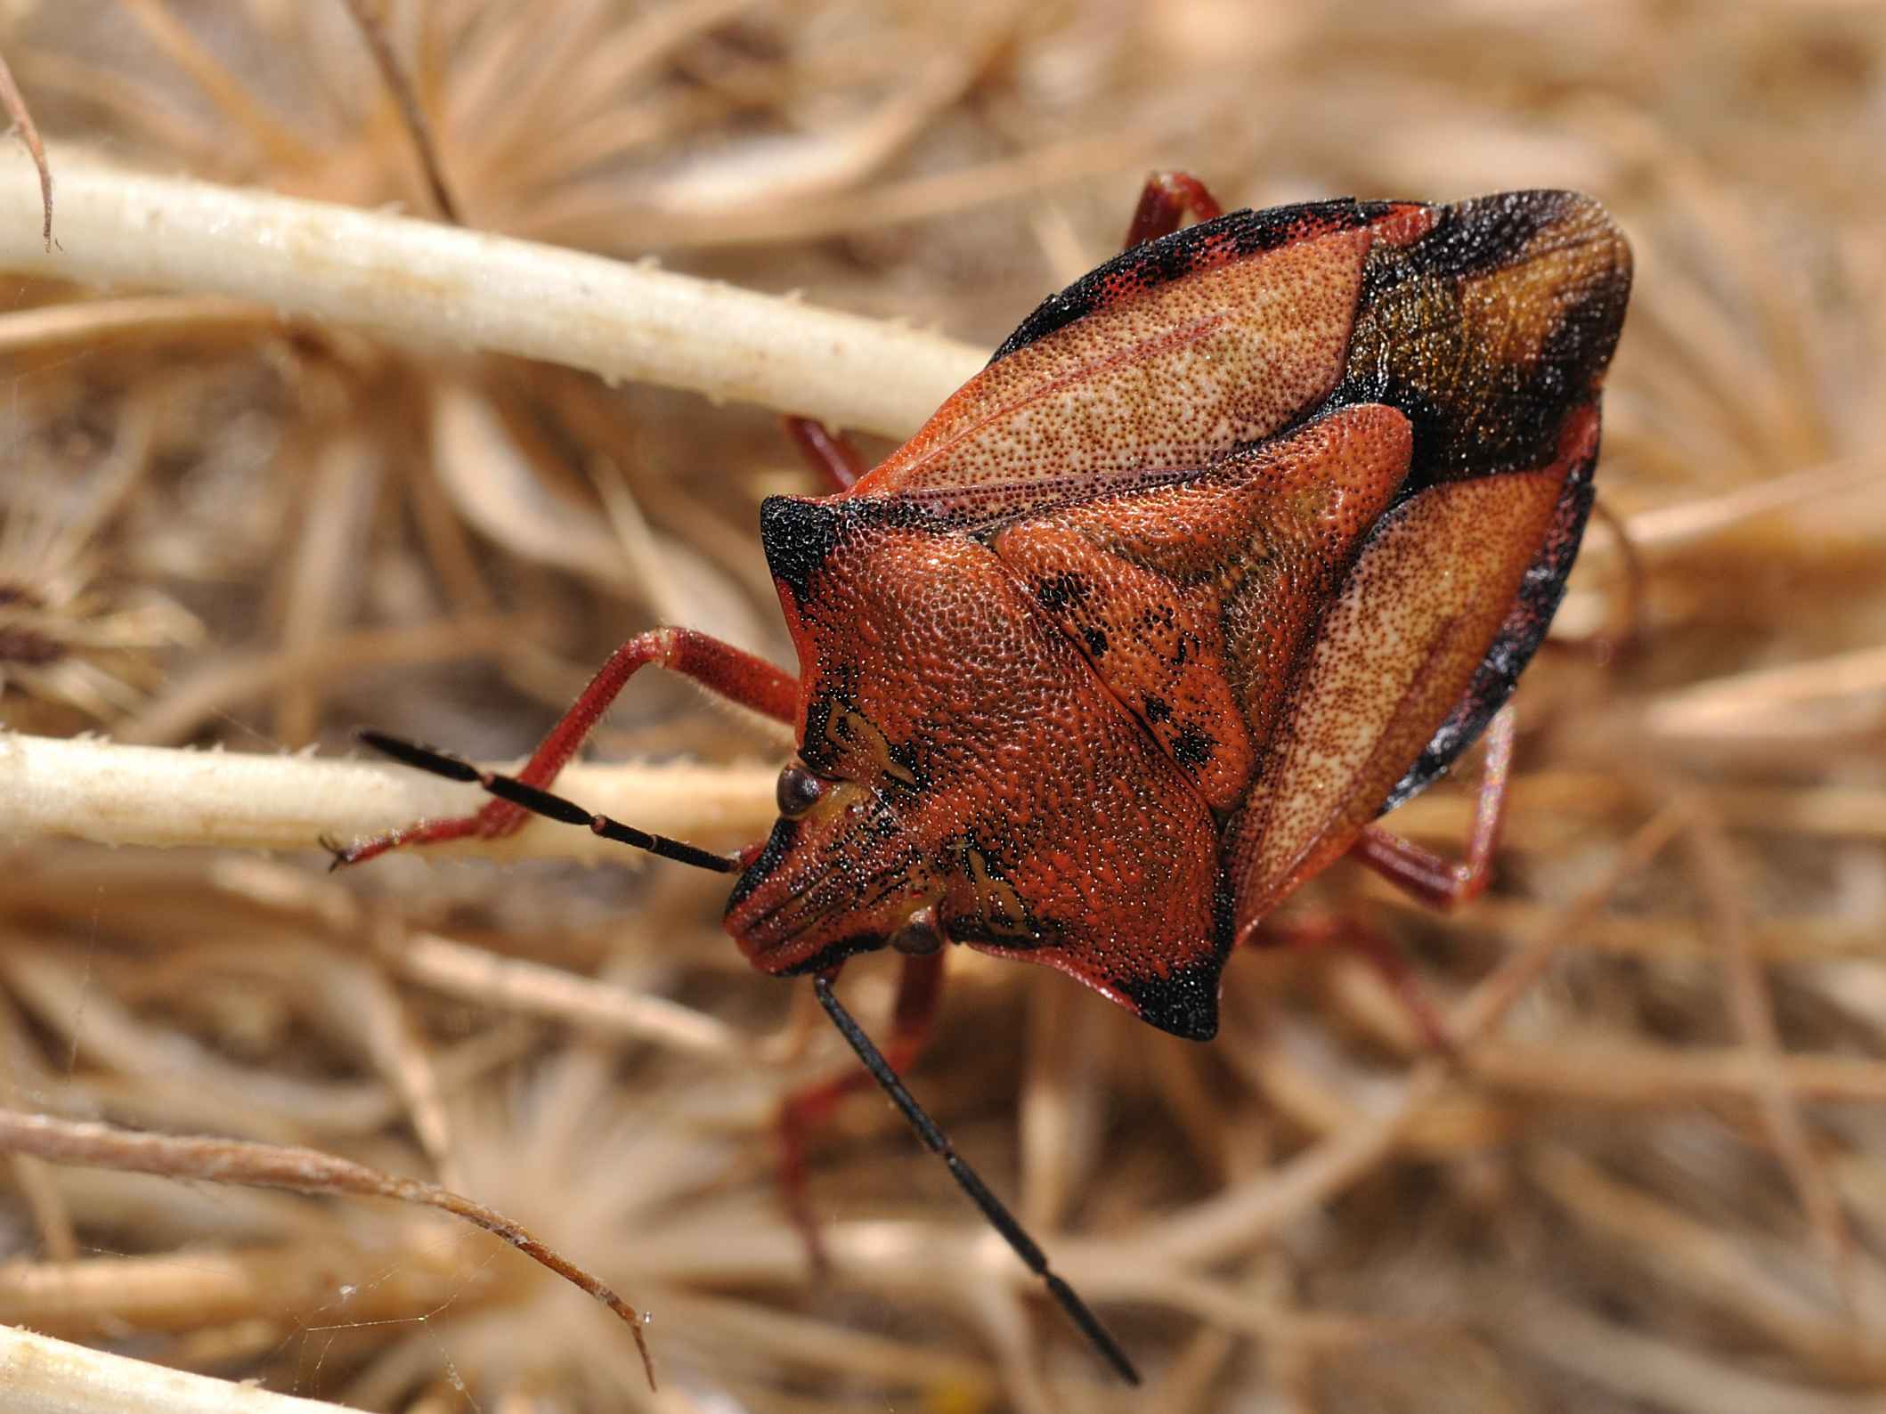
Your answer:
[[[636,1337],[636,1350],[641,1352],[641,1369],[649,1376],[649,1388],[654,1388],[654,1359],[649,1356],[649,1344],[641,1333],[641,1312],[504,1214],[492,1212],[483,1203],[473,1203],[436,1184],[398,1178],[313,1148],[253,1144],[240,1139],[141,1135],[117,1129],[109,1124],[60,1120],[49,1114],[23,1114],[19,1110],[0,1110],[0,1148],[13,1154],[32,1154],[49,1163],[155,1173],[168,1178],[194,1178],[211,1184],[287,1188],[294,1193],[390,1197],[451,1212],[455,1218],[464,1218],[492,1237],[509,1242],[532,1261],[549,1267],[566,1282],[620,1316],[630,1335]]]

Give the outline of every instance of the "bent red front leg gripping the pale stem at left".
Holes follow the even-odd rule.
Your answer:
[[[743,649],[736,649],[720,639],[696,633],[692,628],[656,628],[632,637],[617,649],[609,662],[602,666],[583,696],[571,703],[562,720],[551,728],[538,750],[517,771],[517,779],[526,786],[547,786],[556,773],[570,764],[570,758],[583,747],[585,737],[609,711],[609,703],[622,686],[647,664],[660,664],[671,673],[694,679],[709,692],[749,707],[762,716],[786,722],[798,720],[800,681],[783,667],[775,667],[764,658],[754,658]],[[447,839],[502,839],[524,824],[530,813],[494,799],[475,814],[458,814],[449,820],[417,820],[385,835],[356,841],[334,852],[334,867],[360,863],[385,854],[402,845],[438,845]]]

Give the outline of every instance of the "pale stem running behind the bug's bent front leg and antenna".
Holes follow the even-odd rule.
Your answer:
[[[777,764],[571,765],[556,788],[643,830],[728,847],[771,828],[777,773]],[[349,841],[417,818],[466,814],[485,799],[475,786],[377,762],[0,733],[0,845],[70,835],[98,845],[317,848],[323,835]],[[532,820],[509,839],[441,845],[438,852],[637,858],[624,845],[549,820]]]

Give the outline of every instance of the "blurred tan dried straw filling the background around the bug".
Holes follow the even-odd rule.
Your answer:
[[[13,1399],[273,1406],[162,1365],[415,1414],[1880,1408],[1886,9],[358,9],[468,224],[983,349],[1109,253],[1154,164],[1228,206],[1594,192],[1637,251],[1601,466],[1637,633],[1528,673],[1488,899],[1437,920],[1339,867],[1303,903],[1413,952],[1475,1037],[1460,1071],[1343,958],[1233,960],[1211,1046],[954,965],[915,1086],[1124,1333],[1130,1395],[877,1099],[817,1152],[813,1278],[769,1126],[843,1061],[719,933],[720,880],[579,865],[554,826],[504,867],[328,877],[311,848],[419,799],[304,756],[355,724],[515,758],[647,624],[783,656],[754,507],[811,481],[781,409],[234,305],[215,262],[166,290],[8,275],[0,1105],[455,1186],[649,1310],[662,1373],[651,1395],[605,1312],[428,1210],[13,1154],[0,1322],[151,1361],[98,1403],[96,1371],[11,1346]],[[0,55],[55,177],[102,155],[434,213],[339,0],[11,0]],[[187,255],[162,222],[121,238]],[[813,345],[783,345],[809,388]],[[932,373],[866,381],[934,402]],[[1560,630],[1620,605],[1596,528]],[[226,756],[34,745],[79,733]],[[573,777],[585,799],[732,845],[783,747],[637,681],[594,754],[630,765]],[[109,831],[28,818],[28,756],[172,848],[51,839]],[[1445,845],[1467,809],[1447,784],[1398,826]],[[207,847],[241,839],[307,848]],[[881,1028],[877,962],[847,994]]]

